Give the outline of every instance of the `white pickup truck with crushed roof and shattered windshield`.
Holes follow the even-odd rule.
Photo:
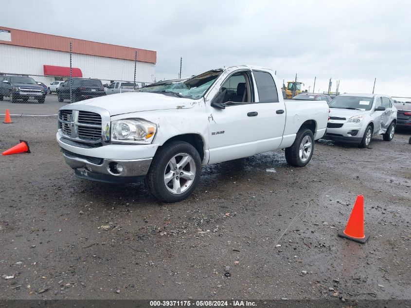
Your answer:
[[[187,198],[201,165],[285,148],[305,166],[326,130],[328,105],[283,100],[269,69],[204,72],[169,89],[92,98],[58,112],[57,142],[77,177],[145,181],[156,198]]]

